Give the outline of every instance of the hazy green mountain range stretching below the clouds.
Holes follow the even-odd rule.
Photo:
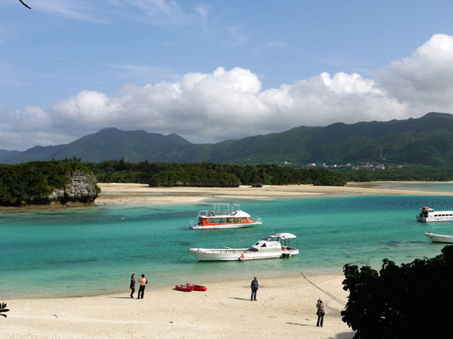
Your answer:
[[[295,127],[286,132],[249,136],[220,143],[194,144],[176,134],[164,136],[114,127],[72,143],[35,146],[23,152],[0,150],[0,163],[76,157],[82,161],[217,162],[294,165],[308,163],[453,165],[453,115],[427,113],[421,118],[386,122],[335,123]]]

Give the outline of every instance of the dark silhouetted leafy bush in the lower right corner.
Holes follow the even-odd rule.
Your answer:
[[[450,325],[453,246],[401,266],[384,259],[379,272],[345,265],[344,276],[349,298],[341,315],[355,339],[442,338]]]

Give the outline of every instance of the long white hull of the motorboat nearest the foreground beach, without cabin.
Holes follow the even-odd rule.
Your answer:
[[[189,249],[198,261],[242,261],[289,258],[299,254],[298,249],[280,251],[248,251],[248,249]]]

